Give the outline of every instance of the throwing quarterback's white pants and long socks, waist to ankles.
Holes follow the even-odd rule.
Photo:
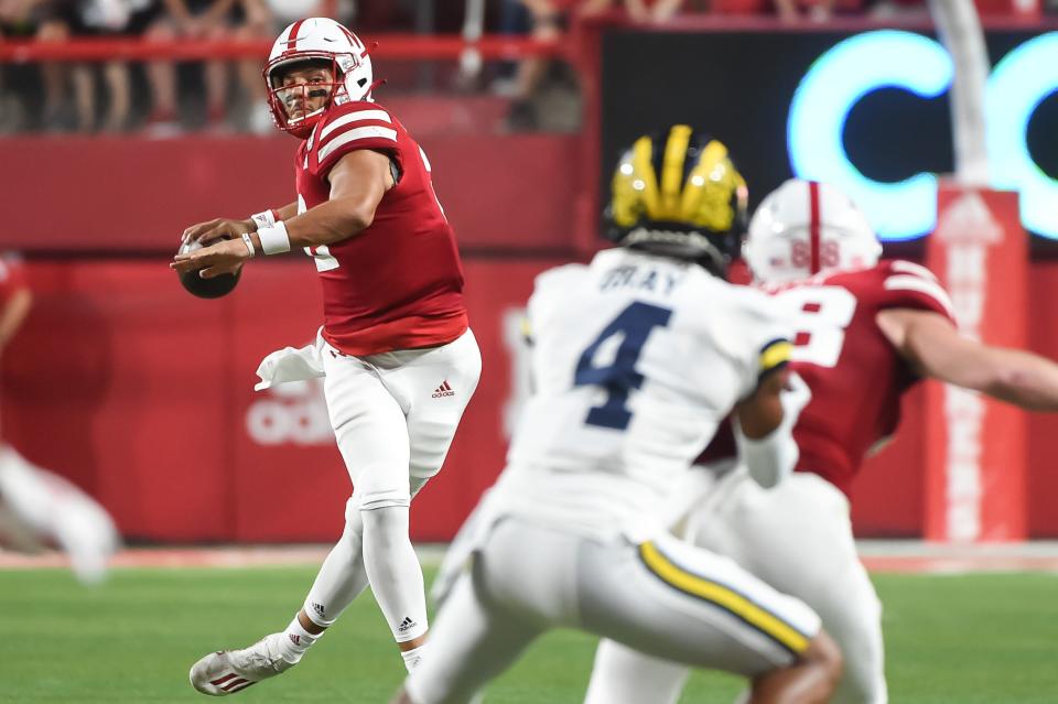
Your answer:
[[[395,639],[412,640],[425,631],[427,619],[407,511],[411,497],[441,470],[477,388],[477,342],[467,331],[441,347],[368,357],[323,343],[322,358],[327,410],[354,490],[342,539],[309,592],[305,614],[330,626],[370,575]]]

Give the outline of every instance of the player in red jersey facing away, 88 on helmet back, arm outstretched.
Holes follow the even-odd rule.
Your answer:
[[[948,294],[928,269],[878,262],[863,215],[832,186],[792,180],[754,214],[744,254],[756,282],[798,331],[791,368],[812,398],[794,429],[796,472],[760,489],[733,464],[733,438],[714,441],[691,473],[702,497],[687,523],[695,544],[819,613],[844,656],[832,701],[888,701],[882,607],[853,541],[850,486],[872,446],[892,435],[900,396],[921,378],[1018,407],[1058,411],[1058,366],[1036,355],[960,336]],[[712,469],[711,469],[712,468]],[[687,671],[604,642],[587,704],[676,702]]]

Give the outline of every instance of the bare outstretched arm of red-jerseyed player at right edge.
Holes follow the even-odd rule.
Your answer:
[[[1058,365],[1049,359],[963,337],[951,321],[930,311],[892,308],[876,319],[919,375],[1026,410],[1058,411]]]

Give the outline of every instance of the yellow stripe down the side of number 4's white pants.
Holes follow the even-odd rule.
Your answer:
[[[639,545],[647,568],[669,586],[709,602],[768,636],[795,654],[808,649],[809,637],[781,617],[722,584],[691,574],[663,555],[654,543]]]

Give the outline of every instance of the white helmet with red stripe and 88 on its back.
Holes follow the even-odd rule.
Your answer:
[[[790,178],[753,214],[742,253],[755,280],[786,283],[827,269],[873,267],[882,245],[844,193]]]

